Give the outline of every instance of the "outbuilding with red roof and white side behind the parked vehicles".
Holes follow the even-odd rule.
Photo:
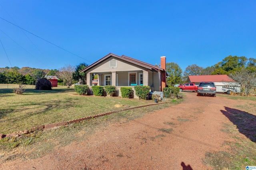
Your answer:
[[[197,86],[200,84],[200,82],[214,82],[216,86],[216,92],[219,93],[240,91],[240,85],[226,74],[188,76],[188,82],[194,82]]]

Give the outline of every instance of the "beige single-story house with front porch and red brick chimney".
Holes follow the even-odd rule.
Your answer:
[[[162,92],[166,87],[166,57],[161,57],[161,67],[127,57],[109,53],[102,59],[87,66],[80,72],[86,72],[89,87],[95,85],[93,74],[98,74],[97,86],[116,86],[121,96],[121,87],[150,86],[151,91]],[[134,94],[134,98],[138,98]]]

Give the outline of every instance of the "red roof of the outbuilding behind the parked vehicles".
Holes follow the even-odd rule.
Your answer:
[[[236,82],[226,74],[188,76],[190,82]]]

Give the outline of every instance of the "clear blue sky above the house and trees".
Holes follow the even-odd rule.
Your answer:
[[[114,53],[166,56],[184,71],[256,58],[256,0],[0,0],[0,17],[75,54],[0,19],[0,67],[58,69]]]

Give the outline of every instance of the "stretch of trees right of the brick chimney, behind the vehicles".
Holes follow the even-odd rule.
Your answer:
[[[168,73],[167,84],[173,86],[174,84],[183,84],[188,81],[189,75],[216,75],[227,74],[234,80],[238,79],[238,75],[247,73],[250,78],[256,79],[256,59],[238,56],[225,57],[221,62],[208,66],[206,68],[200,67],[197,64],[192,64],[186,67],[182,72],[180,66],[176,63],[166,63],[166,71]]]

